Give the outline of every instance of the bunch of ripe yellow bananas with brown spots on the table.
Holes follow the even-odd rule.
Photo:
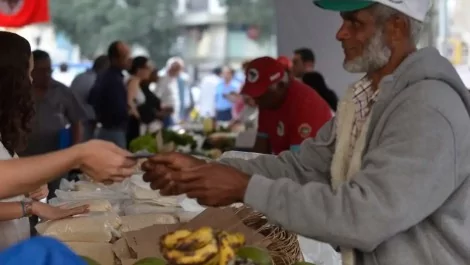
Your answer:
[[[227,265],[243,245],[244,235],[210,227],[196,231],[177,230],[160,240],[163,257],[171,265]]]

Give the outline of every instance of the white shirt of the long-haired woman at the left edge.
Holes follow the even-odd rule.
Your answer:
[[[16,155],[15,155],[16,157]],[[0,142],[0,160],[12,159],[8,150]],[[0,200],[0,202],[20,202],[24,196]],[[0,204],[1,205],[1,204]],[[1,206],[0,206],[1,211]],[[29,219],[27,217],[0,222],[0,251],[30,237]]]

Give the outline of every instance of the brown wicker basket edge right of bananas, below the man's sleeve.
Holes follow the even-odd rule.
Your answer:
[[[240,217],[246,226],[257,230],[271,242],[267,248],[274,265],[291,265],[303,261],[296,234],[277,225],[269,224],[263,214],[246,206],[235,208],[235,212],[241,215]]]

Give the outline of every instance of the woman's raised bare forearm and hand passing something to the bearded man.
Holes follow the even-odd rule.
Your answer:
[[[104,141],[90,141],[40,156],[0,161],[0,199],[26,194],[74,168],[96,181],[122,181],[134,173],[129,152]]]

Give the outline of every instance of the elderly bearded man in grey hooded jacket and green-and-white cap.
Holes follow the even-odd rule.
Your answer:
[[[366,73],[336,119],[300,153],[157,156],[145,179],[206,205],[243,201],[339,246],[344,264],[469,264],[470,99],[438,51],[416,48],[429,2],[315,1],[343,18],[345,69]]]

